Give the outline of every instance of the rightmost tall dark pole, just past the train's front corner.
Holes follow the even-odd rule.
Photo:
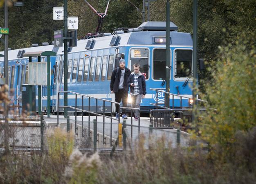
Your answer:
[[[192,122],[195,121],[195,101],[196,101],[196,90],[197,90],[197,13],[198,13],[198,1],[193,0],[193,110],[192,110]]]

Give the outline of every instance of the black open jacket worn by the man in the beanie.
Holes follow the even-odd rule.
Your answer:
[[[124,90],[128,92],[128,77],[130,76],[131,71],[125,67],[125,72],[124,72]],[[119,82],[121,78],[121,69],[119,67],[115,68],[113,70],[112,75],[111,75],[111,81],[110,81],[110,90],[114,92],[118,92],[118,87],[119,87]]]

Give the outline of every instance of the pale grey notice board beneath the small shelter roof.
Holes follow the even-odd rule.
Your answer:
[[[47,85],[47,62],[29,63],[29,85]]]

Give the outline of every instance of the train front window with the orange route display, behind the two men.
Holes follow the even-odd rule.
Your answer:
[[[133,72],[133,65],[138,63],[140,72],[146,73],[146,78],[148,79],[148,49],[131,49],[130,61],[131,72]]]

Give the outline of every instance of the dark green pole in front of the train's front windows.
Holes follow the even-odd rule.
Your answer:
[[[166,92],[170,92],[170,0],[166,2]],[[165,94],[165,107],[170,108],[170,96]]]

